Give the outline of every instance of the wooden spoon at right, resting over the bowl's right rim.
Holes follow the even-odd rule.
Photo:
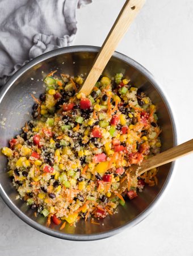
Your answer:
[[[175,159],[181,158],[184,155],[193,152],[193,139],[184,142],[176,147],[170,148],[148,160],[144,160],[140,166],[132,165],[125,175],[129,174],[129,179],[133,177],[138,177],[144,172],[149,171],[155,167],[162,166],[163,164],[173,162]],[[118,193],[123,193],[128,187],[128,180],[126,179],[120,184],[118,188]]]

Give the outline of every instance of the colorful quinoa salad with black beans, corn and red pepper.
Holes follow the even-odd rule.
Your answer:
[[[156,106],[121,73],[101,76],[88,97],[78,92],[83,76],[54,71],[44,83],[45,93],[31,95],[31,121],[2,148],[17,198],[48,226],[89,217],[100,225],[99,218],[158,182],[157,168],[132,179],[128,171],[160,152]]]

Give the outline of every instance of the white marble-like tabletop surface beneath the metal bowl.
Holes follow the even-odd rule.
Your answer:
[[[78,10],[75,44],[101,46],[124,0],[94,0]],[[178,139],[192,138],[193,1],[147,0],[118,51],[137,60],[166,92]],[[0,255],[193,255],[192,155],[178,160],[167,195],[149,217],[102,241],[62,241],[24,224],[0,200]]]

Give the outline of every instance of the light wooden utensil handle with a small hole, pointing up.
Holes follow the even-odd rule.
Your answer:
[[[127,0],[125,2],[79,92],[84,93],[86,96],[91,93],[91,90],[93,90],[99,76],[102,74],[114,53],[115,48],[118,46],[121,38],[123,38],[125,32],[128,30],[130,24],[135,19],[144,3],[145,0]]]

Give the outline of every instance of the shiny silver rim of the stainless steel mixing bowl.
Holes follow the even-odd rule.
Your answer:
[[[11,86],[14,84],[14,82],[23,75],[28,69],[32,68],[34,65],[39,64],[41,61],[47,60],[51,57],[56,57],[58,55],[62,55],[64,53],[72,53],[72,52],[98,52],[100,47],[96,46],[69,46],[59,49],[54,49],[53,51],[44,53],[43,55],[40,55],[36,57],[35,59],[31,60],[29,63],[24,65],[22,68],[20,68],[17,72],[14,73],[14,75],[6,82],[5,86],[3,86],[1,93],[0,93],[0,104],[3,100],[3,97],[5,96],[6,92],[11,88]],[[174,122],[174,114],[171,110],[171,104],[169,104],[169,101],[167,100],[166,93],[163,92],[163,89],[161,89],[161,86],[158,84],[154,76],[141,64],[137,63],[137,61],[131,59],[130,57],[115,52],[113,57],[116,57],[120,60],[123,60],[124,62],[131,65],[133,68],[136,68],[142,75],[146,77],[157,89],[158,93],[160,93],[163,101],[166,104],[167,110],[170,115],[171,123],[173,126],[173,134],[174,134],[174,145],[177,145],[177,127]],[[146,218],[152,210],[157,206],[158,203],[160,203],[163,195],[165,195],[166,190],[168,189],[169,183],[171,183],[171,177],[173,177],[174,174],[174,166],[175,162],[171,163],[170,172],[167,175],[167,179],[165,183],[163,184],[163,187],[161,191],[158,193],[156,198],[152,201],[152,203],[149,205],[148,208],[146,208],[143,212],[139,214],[136,218],[129,221],[127,224],[119,226],[119,228],[115,228],[112,230],[109,230],[107,232],[102,233],[96,233],[96,234],[65,234],[61,233],[52,229],[49,229],[41,224],[38,224],[36,221],[32,220],[30,217],[27,217],[26,214],[24,214],[22,211],[19,210],[19,208],[16,207],[14,203],[12,203],[11,199],[6,195],[5,191],[2,188],[2,185],[0,183],[0,195],[3,199],[3,201],[7,204],[7,206],[18,216],[21,220],[26,222],[28,225],[30,225],[32,228],[35,228],[36,230],[39,230],[40,232],[43,232],[45,234],[48,234],[49,236],[65,239],[65,240],[72,240],[72,241],[93,241],[93,240],[100,240],[103,238],[107,238],[110,236],[114,236],[115,234],[119,233],[121,230],[124,230],[125,228],[131,228],[132,226],[135,226],[139,224],[144,218]]]

